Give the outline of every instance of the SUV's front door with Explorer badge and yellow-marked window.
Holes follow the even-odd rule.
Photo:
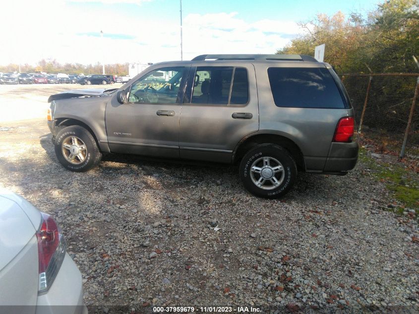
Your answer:
[[[111,152],[179,158],[179,119],[189,66],[151,70],[106,107]]]

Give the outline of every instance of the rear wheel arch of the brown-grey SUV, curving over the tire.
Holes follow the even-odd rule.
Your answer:
[[[270,133],[258,133],[243,138],[233,152],[233,162],[238,163],[245,153],[259,144],[272,143],[284,147],[294,158],[299,170],[305,171],[304,155],[299,146],[290,138]]]

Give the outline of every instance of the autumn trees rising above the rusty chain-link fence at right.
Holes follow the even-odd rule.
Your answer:
[[[300,22],[305,34],[293,39],[278,54],[313,55],[315,46],[325,44],[324,61],[338,73],[417,72],[412,58],[419,53],[419,2],[388,0],[363,16],[342,12],[318,14]],[[417,56],[418,57],[418,56]]]

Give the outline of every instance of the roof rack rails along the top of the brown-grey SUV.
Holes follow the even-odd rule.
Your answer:
[[[213,60],[258,60],[258,61],[307,61],[317,62],[314,57],[306,55],[200,55],[192,61]]]

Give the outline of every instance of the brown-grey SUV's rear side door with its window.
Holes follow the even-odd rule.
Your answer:
[[[229,163],[239,141],[258,129],[253,64],[194,63],[180,113],[180,158]]]

